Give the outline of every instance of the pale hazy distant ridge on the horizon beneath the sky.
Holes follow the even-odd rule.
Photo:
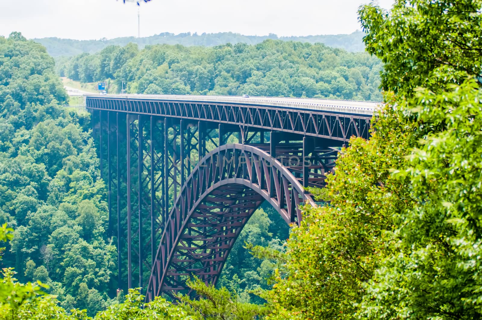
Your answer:
[[[278,37],[275,34],[269,34],[268,36],[244,36],[239,33],[232,32],[203,33],[201,35],[197,33],[191,34],[188,32],[175,35],[174,33],[165,32],[150,37],[122,37],[110,40],[72,40],[59,38],[41,38],[33,40],[40,42],[47,48],[47,52],[50,55],[56,57],[60,55],[73,56],[83,52],[96,53],[108,45],[113,44],[125,46],[129,42],[137,43],[139,48],[142,49],[146,45],[158,43],[182,44],[184,46],[216,46],[226,44],[228,42],[232,44],[238,42],[257,44],[266,39],[324,43],[329,47],[342,48],[350,52],[360,52],[364,51],[365,49],[362,38],[363,32],[361,31],[355,31],[351,34],[317,35],[305,37]]]

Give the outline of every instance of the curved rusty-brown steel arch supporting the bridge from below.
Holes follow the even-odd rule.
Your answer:
[[[267,152],[228,144],[202,158],[165,221],[146,299],[189,293],[192,274],[215,283],[242,228],[263,201],[287,223],[299,223],[299,205],[315,205],[295,176]]]

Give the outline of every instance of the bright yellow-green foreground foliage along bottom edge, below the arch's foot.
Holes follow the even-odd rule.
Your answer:
[[[0,228],[0,241],[13,238],[12,229],[3,225]],[[0,256],[1,257],[1,256]],[[88,316],[86,309],[70,309],[67,312],[59,306],[54,295],[41,289],[49,289],[39,280],[22,284],[15,279],[12,268],[5,268],[0,278],[0,319],[66,319],[66,320],[107,320],[107,319],[178,319],[178,320],[216,320],[216,319],[256,319],[267,313],[266,307],[241,303],[227,289],[216,290],[206,286],[201,280],[189,282],[200,298],[192,300],[189,296],[179,295],[179,303],[174,305],[162,297],[145,304],[145,297],[138,289],[130,289],[122,303],[112,304],[94,318]]]

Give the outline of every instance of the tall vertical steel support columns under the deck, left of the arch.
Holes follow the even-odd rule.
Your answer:
[[[101,173],[107,172],[107,234],[117,239],[118,286],[124,290],[134,286],[135,276],[140,287],[147,280],[143,270],[152,266],[165,217],[164,123],[155,118],[93,114],[100,119],[94,137]]]

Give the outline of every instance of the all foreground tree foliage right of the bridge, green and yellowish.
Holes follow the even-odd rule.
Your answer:
[[[388,104],[305,208],[270,319],[480,319],[481,1],[360,10]],[[423,88],[420,88],[423,87]]]

